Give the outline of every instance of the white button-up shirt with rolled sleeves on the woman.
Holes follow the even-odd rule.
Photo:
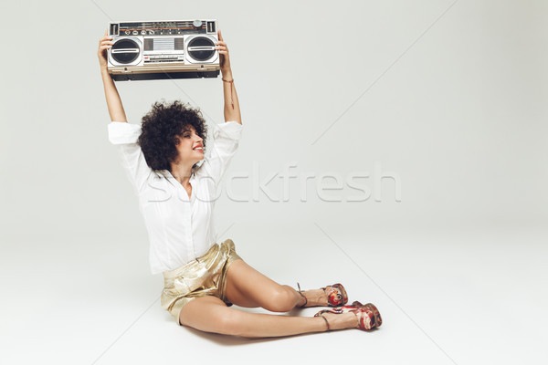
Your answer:
[[[152,170],[137,139],[141,125],[112,121],[109,141],[117,145],[121,164],[135,193],[150,241],[153,274],[173,270],[204,255],[216,244],[213,208],[217,188],[237,151],[242,125],[237,121],[214,124],[210,151],[190,177],[191,197],[168,170]]]

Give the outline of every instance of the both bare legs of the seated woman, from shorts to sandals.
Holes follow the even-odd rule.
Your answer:
[[[240,307],[262,307],[285,312],[304,304],[304,298],[292,287],[279,285],[260,274],[243,260],[234,261],[227,270],[227,299]],[[353,313],[325,314],[331,329],[355,328]],[[186,304],[179,315],[184,326],[247,338],[264,338],[321,332],[327,329],[319,317],[289,317],[248,313],[229,308],[219,298],[198,297]]]

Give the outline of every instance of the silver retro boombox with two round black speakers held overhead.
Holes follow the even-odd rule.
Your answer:
[[[216,30],[211,19],[109,23],[109,73],[117,81],[216,78]]]

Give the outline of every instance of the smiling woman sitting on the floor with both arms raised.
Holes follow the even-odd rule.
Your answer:
[[[342,285],[297,291],[248,266],[232,240],[216,244],[216,189],[242,131],[227,43],[220,32],[218,39],[226,121],[214,125],[214,141],[205,157],[205,121],[198,110],[178,101],[154,103],[141,126],[127,122],[107,70],[107,49],[113,42],[106,33],[100,38],[100,74],[111,116],[109,139],[119,146],[121,162],[139,196],[151,244],[151,270],[164,277],[162,307],[181,326],[248,338],[380,326],[382,319],[371,303],[345,306],[348,297]],[[335,308],[302,318],[248,313],[230,308],[232,304],[273,312]]]

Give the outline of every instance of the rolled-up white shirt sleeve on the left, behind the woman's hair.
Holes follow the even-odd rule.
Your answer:
[[[111,121],[108,129],[109,141],[118,146],[121,165],[132,182],[135,192],[141,192],[152,172],[144,159],[141,146],[137,144],[137,139],[141,135],[141,125]]]

